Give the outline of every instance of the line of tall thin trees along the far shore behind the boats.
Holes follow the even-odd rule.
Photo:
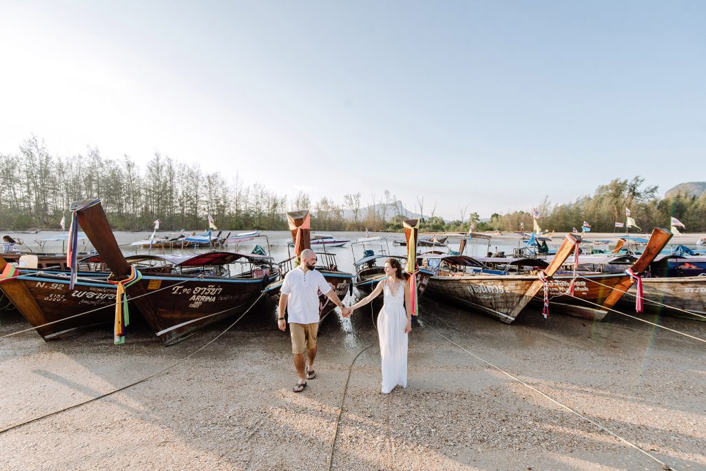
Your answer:
[[[148,230],[160,220],[160,229],[178,231],[208,225],[211,215],[218,227],[229,229],[287,229],[288,210],[309,208],[312,227],[318,231],[402,230],[407,210],[390,191],[371,195],[364,203],[361,193],[346,194],[342,202],[323,196],[312,202],[309,195],[278,195],[265,185],[245,184],[236,175],[203,172],[198,163],[175,162],[155,155],[141,169],[131,157],[107,159],[97,148],[85,155],[56,157],[36,136],[20,145],[15,154],[0,154],[0,227],[4,229],[59,229],[68,205],[86,198],[101,198],[111,226],[116,230]],[[433,205],[417,197],[416,213],[424,214],[424,232],[474,230],[532,230],[532,211],[494,213],[481,222],[478,213],[461,205],[458,218],[444,220]],[[613,232],[615,222],[625,222],[625,208],[644,230],[669,227],[677,217],[688,232],[706,232],[706,194],[657,197],[657,186],[645,186],[642,177],[614,179],[589,196],[552,205],[549,198],[536,205],[542,229],[569,232],[584,221],[594,232]],[[623,229],[617,229],[621,232]],[[634,228],[631,230],[635,230]]]

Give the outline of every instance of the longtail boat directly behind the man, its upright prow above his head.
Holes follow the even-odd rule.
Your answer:
[[[294,263],[299,262],[301,252],[304,251],[304,249],[311,249],[311,216],[309,215],[309,210],[287,213],[287,222],[289,223],[289,230],[292,232],[292,242],[289,244],[294,247],[294,256],[290,256],[287,260],[280,262],[282,279],[265,287],[265,292],[273,297],[275,302],[278,302],[280,299],[280,288],[282,288],[285,275],[295,268]],[[349,290],[352,290],[353,287],[351,284],[353,278],[352,273],[338,270],[335,254],[316,252],[316,258],[318,263],[316,265],[316,271],[323,275],[326,282],[335,290],[338,298],[343,301],[346,294],[348,294]],[[318,299],[318,315],[319,323],[321,323],[336,306],[323,294],[319,294]]]

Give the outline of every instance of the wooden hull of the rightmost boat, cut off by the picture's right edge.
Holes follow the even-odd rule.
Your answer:
[[[621,300],[623,308],[632,308],[634,311],[637,294],[637,288],[631,288],[628,295]],[[642,297],[647,312],[706,321],[706,276],[643,278]],[[654,304],[655,302],[666,306]]]

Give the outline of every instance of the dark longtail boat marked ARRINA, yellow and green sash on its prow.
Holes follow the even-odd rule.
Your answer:
[[[228,252],[196,254],[198,258],[191,259],[196,273],[142,275],[121,253],[100,200],[79,201],[70,209],[112,272],[108,281],[119,284],[119,292],[123,287],[164,345],[180,342],[222,318],[241,314],[256,301],[273,275],[265,270],[264,260],[263,268],[235,276],[199,272],[198,268],[208,263],[227,265],[244,256]],[[181,266],[184,268],[186,264],[181,263]],[[118,310],[116,306],[116,332],[119,330]]]

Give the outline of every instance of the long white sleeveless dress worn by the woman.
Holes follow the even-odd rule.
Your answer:
[[[388,284],[383,288],[384,304],[378,314],[380,355],[383,359],[383,393],[387,394],[398,384],[407,387],[407,311],[405,290],[402,284],[395,294]]]

